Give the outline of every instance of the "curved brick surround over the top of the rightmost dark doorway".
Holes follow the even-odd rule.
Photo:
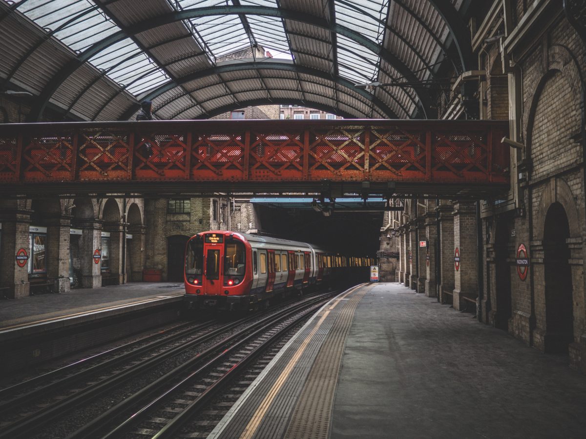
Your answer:
[[[533,222],[534,237],[538,240],[543,240],[543,228],[546,224],[547,211],[556,202],[563,206],[568,217],[570,236],[581,236],[581,224],[583,224],[584,218],[580,215],[574,193],[564,179],[557,178],[551,179],[541,194],[541,200]]]

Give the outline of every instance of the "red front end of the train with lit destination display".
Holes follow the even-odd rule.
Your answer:
[[[251,246],[230,231],[199,233],[185,252],[185,301],[189,308],[246,309],[253,280]]]

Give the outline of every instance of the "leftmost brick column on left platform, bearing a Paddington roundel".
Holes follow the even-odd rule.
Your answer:
[[[31,258],[29,246],[30,211],[14,210],[0,212],[2,243],[0,245],[0,290],[2,296],[18,299],[29,295],[28,264],[19,267],[16,253],[25,249]]]

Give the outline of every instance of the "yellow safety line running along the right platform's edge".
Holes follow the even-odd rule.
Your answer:
[[[265,414],[267,413],[268,407],[271,406],[272,401],[277,396],[277,393],[279,392],[281,387],[284,385],[285,381],[287,381],[287,378],[291,374],[291,371],[293,370],[295,364],[297,364],[297,361],[299,360],[301,355],[305,352],[305,349],[308,347],[309,342],[314,337],[316,332],[318,332],[318,330],[321,327],[325,318],[328,317],[329,313],[333,310],[333,308],[336,307],[336,305],[338,305],[340,300],[344,299],[348,294],[353,293],[354,291],[356,291],[357,289],[359,289],[362,286],[363,285],[356,286],[353,289],[351,289],[350,291],[348,291],[346,294],[344,294],[342,297],[336,298],[334,300],[332,306],[329,307],[325,311],[325,313],[323,313],[323,315],[319,319],[318,323],[315,324],[314,329],[311,332],[309,332],[307,337],[305,337],[304,341],[301,343],[301,346],[299,346],[299,348],[297,349],[297,352],[295,352],[293,357],[287,363],[287,366],[285,366],[285,369],[283,369],[283,371],[281,372],[281,375],[279,376],[279,378],[277,378],[275,383],[272,385],[271,390],[267,393],[267,396],[265,396],[265,398],[264,398],[263,402],[261,402],[260,406],[258,406],[258,408],[254,412],[254,415],[251,418],[251,420],[248,421],[246,428],[244,428],[243,433],[240,435],[240,439],[251,439],[253,437],[253,435],[257,432],[258,427],[260,427],[261,421],[263,420]]]

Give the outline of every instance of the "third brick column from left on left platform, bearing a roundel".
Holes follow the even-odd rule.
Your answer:
[[[102,224],[98,221],[81,222],[80,259],[81,287],[99,288],[102,286],[101,260],[94,260],[94,252],[101,247]]]

